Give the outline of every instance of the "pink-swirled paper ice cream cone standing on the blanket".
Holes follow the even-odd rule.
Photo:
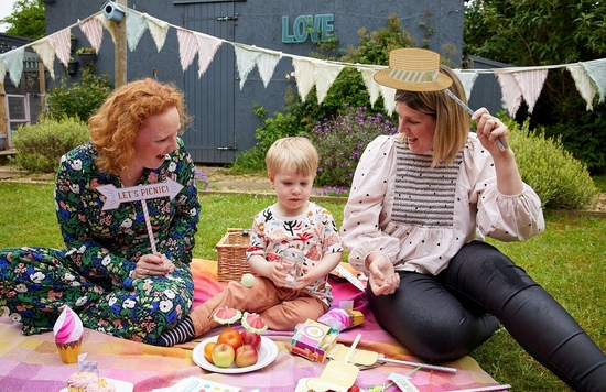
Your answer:
[[[53,328],[55,342],[64,363],[76,363],[82,349],[84,327],[77,314],[65,306]]]

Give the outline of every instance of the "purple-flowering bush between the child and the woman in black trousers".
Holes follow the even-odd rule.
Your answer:
[[[398,126],[381,113],[369,115],[366,107],[345,104],[338,116],[318,122],[309,133],[320,155],[315,184],[350,187],[366,145],[380,134],[397,131]]]

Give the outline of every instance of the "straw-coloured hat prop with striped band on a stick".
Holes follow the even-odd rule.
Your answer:
[[[441,91],[453,84],[440,72],[440,54],[418,47],[389,52],[389,67],[376,73],[375,81],[405,91]]]

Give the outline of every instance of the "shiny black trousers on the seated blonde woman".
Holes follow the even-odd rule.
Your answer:
[[[606,355],[524,270],[493,246],[464,246],[437,276],[400,272],[392,295],[367,290],[379,324],[428,361],[469,353],[500,322],[575,391],[606,391]]]

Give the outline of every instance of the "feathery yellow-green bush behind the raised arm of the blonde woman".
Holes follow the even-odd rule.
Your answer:
[[[507,122],[522,179],[541,197],[543,208],[595,206],[599,189],[586,165],[564,149],[560,138],[545,138],[542,128],[530,131],[528,120],[521,128],[512,120]]]

